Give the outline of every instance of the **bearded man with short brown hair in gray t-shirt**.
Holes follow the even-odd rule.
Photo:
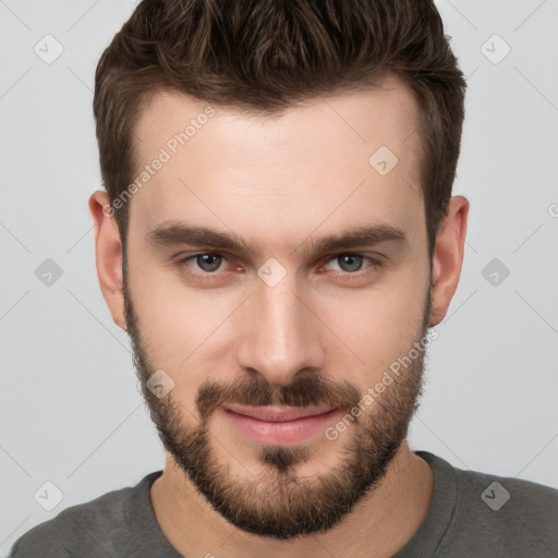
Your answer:
[[[558,490],[411,451],[465,84],[429,1],[142,2],[94,110],[100,287],[165,471],[27,556],[558,556]]]

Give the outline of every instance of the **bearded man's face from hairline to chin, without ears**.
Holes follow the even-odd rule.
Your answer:
[[[428,326],[417,108],[395,78],[275,119],[197,119],[206,108],[158,94],[136,129],[138,174],[169,155],[129,202],[136,367],[167,451],[227,520],[277,538],[324,531],[383,478],[421,390],[423,351],[390,372]],[[367,228],[378,242],[319,246]],[[173,383],[162,398],[145,386],[156,371]],[[314,416],[242,414],[265,405]]]

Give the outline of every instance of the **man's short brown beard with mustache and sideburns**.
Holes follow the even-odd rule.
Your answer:
[[[411,418],[418,409],[425,351],[418,351],[418,356],[404,373],[392,378],[381,396],[374,399],[371,409],[352,417],[354,422],[347,432],[336,441],[327,442],[331,444],[331,451],[338,453],[336,466],[308,480],[298,475],[296,468],[312,460],[310,446],[257,446],[255,454],[263,464],[262,474],[239,480],[215,452],[215,444],[219,441],[210,432],[209,420],[219,405],[233,402],[246,405],[323,404],[350,413],[362,402],[365,392],[348,381],[306,374],[307,371],[300,371],[288,386],[270,385],[262,375],[228,384],[207,380],[197,390],[195,407],[199,418],[194,417],[181,401],[171,397],[172,391],[159,399],[146,384],[157,367],[149,362],[140,331],[125,264],[123,295],[134,365],[158,436],[185,477],[232,525],[276,539],[324,533],[378,486],[405,440]],[[430,307],[432,284],[423,304],[421,331],[413,342],[426,335]],[[184,425],[185,417],[192,424]]]

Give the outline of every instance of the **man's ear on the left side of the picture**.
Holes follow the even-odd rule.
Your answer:
[[[124,296],[122,293],[122,243],[114,210],[106,192],[94,192],[89,197],[89,211],[95,230],[97,277],[102,296],[114,324],[125,329]]]

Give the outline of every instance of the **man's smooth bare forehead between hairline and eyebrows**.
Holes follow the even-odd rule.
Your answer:
[[[396,77],[272,117],[158,93],[134,130],[131,231],[182,220],[278,241],[348,222],[420,227],[417,110]]]

